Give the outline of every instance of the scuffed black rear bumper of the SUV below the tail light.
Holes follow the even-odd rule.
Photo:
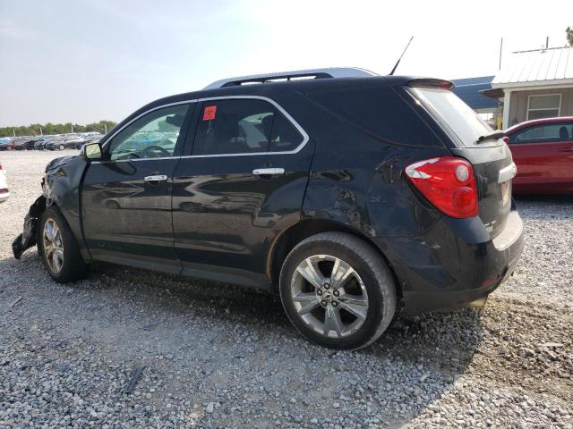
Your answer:
[[[523,222],[512,211],[489,238],[479,218],[444,218],[423,237],[377,239],[401,285],[406,313],[465,307],[513,273],[524,247]]]

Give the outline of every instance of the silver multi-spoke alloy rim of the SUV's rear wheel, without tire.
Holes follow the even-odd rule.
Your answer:
[[[314,255],[295,269],[291,299],[296,314],[325,337],[358,331],[368,314],[368,293],[355,269],[338,257]]]

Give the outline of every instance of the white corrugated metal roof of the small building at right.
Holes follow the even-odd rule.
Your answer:
[[[573,83],[573,47],[514,52],[492,81],[492,88]]]

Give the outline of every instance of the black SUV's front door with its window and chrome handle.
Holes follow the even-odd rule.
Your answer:
[[[107,140],[81,190],[82,225],[92,257],[179,273],[171,193],[190,104],[158,107]]]

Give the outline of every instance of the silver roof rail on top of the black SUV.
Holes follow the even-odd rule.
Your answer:
[[[217,80],[203,89],[215,89],[224,87],[238,87],[252,83],[278,82],[299,79],[330,79],[330,78],[365,78],[379,76],[378,74],[357,67],[331,67],[328,69],[311,69],[296,71],[280,71],[277,73],[253,74]]]

